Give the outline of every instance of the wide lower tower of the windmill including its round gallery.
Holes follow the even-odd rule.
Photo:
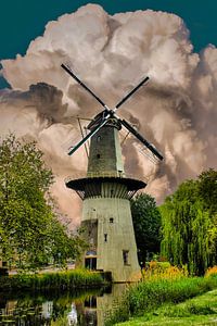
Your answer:
[[[114,283],[139,280],[141,268],[129,200],[145,184],[120,176],[92,175],[69,180],[66,186],[84,200],[81,229],[88,248],[76,266],[111,272]]]

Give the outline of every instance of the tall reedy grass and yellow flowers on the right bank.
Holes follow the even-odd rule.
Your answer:
[[[155,312],[165,303],[174,305],[217,288],[216,277],[187,277],[181,273],[177,276],[167,276],[152,275],[138,285],[129,287],[122,302],[108,313],[105,325],[143,316]]]

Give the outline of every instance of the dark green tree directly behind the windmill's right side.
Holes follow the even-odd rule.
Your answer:
[[[159,252],[161,214],[153,197],[140,193],[131,200],[132,223],[139,262]]]

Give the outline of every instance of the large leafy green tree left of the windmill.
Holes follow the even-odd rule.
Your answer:
[[[10,135],[0,145],[1,256],[20,268],[36,268],[48,258],[62,263],[75,256],[79,241],[68,237],[58,222],[49,187],[52,172],[44,166],[35,142]]]

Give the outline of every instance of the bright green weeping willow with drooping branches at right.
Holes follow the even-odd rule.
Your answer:
[[[202,275],[215,263],[215,218],[201,193],[201,180],[181,184],[159,208],[162,255],[176,265],[188,265],[191,274]]]

